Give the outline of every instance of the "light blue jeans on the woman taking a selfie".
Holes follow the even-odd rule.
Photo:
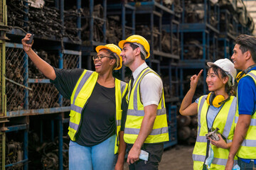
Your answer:
[[[70,170],[112,170],[117,160],[114,155],[115,135],[92,147],[84,147],[70,140]]]

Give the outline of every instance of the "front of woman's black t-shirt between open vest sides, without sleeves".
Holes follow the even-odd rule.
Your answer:
[[[82,111],[82,123],[76,142],[82,146],[93,146],[114,135],[115,110],[114,88],[106,88],[96,83]]]

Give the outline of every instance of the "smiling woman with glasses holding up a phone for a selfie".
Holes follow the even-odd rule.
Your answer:
[[[119,47],[96,47],[95,72],[57,69],[36,55],[33,42],[26,43],[30,37],[27,34],[21,40],[23,50],[60,94],[70,99],[69,169],[123,169],[126,111],[122,110],[127,108],[127,84],[112,76],[114,69],[122,67]]]

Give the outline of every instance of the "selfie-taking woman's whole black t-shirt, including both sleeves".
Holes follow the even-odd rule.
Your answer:
[[[65,98],[70,99],[75,84],[84,69],[55,69],[56,79],[50,81]],[[81,123],[78,133],[75,135],[76,142],[83,146],[97,145],[108,137],[115,134],[115,90],[95,84],[87,105],[82,111]],[[125,99],[123,99],[125,101]],[[122,102],[122,125],[127,113],[127,103]]]

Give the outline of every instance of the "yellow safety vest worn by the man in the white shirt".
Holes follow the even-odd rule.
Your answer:
[[[134,144],[135,140],[139,135],[139,130],[142,125],[142,120],[144,118],[144,106],[141,101],[141,96],[139,92],[140,82],[142,78],[149,72],[154,72],[152,69],[147,67],[144,69],[135,81],[134,86],[129,97],[127,120],[124,128],[124,142],[129,144]],[[158,75],[158,74],[157,74]],[[130,87],[131,81],[129,81]],[[149,91],[150,93],[150,91]],[[154,120],[154,126],[151,133],[146,137],[144,143],[157,143],[169,141],[169,130],[166,118],[166,107],[164,103],[164,91],[159,102],[159,106],[156,111],[156,119]]]

